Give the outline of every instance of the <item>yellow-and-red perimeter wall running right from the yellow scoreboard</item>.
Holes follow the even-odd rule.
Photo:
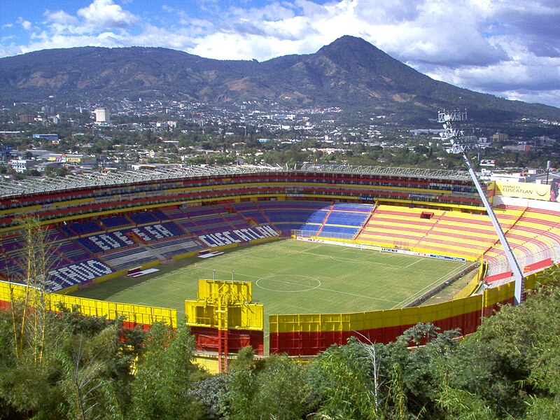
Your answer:
[[[556,265],[528,276],[525,288],[546,283],[558,276]],[[471,285],[472,286],[472,285]],[[269,351],[291,356],[310,356],[332,344],[345,344],[357,336],[370,342],[391,342],[416,323],[434,323],[441,330],[459,328],[462,334],[475,332],[484,316],[513,303],[514,282],[484,290],[482,295],[460,297],[423,307],[350,314],[292,314],[269,316]]]

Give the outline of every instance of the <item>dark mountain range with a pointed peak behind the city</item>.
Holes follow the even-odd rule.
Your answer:
[[[164,98],[210,104],[269,99],[339,106],[369,117],[434,118],[463,109],[479,121],[522,116],[560,120],[560,109],[472,92],[433,80],[367,41],[342,36],[309,55],[218,60],[166,48],[68,48],[0,59],[0,101]]]

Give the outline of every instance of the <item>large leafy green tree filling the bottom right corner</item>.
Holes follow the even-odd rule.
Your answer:
[[[559,311],[556,285],[529,293],[518,307],[502,307],[446,360],[453,372],[447,385],[471,401],[478,398],[496,416],[547,418],[560,396]]]

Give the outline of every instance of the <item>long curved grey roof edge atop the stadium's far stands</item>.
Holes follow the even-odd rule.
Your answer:
[[[56,178],[26,178],[20,180],[0,181],[0,197],[13,197],[52,191],[91,188],[99,186],[117,186],[144,181],[182,179],[196,176],[253,174],[257,172],[323,172],[346,174],[370,174],[383,176],[414,176],[416,178],[432,178],[445,180],[469,181],[466,171],[448,171],[442,169],[411,169],[391,167],[362,167],[348,165],[295,165],[280,167],[271,165],[238,165],[238,166],[191,166],[191,167],[158,167],[156,169],[139,169],[124,172],[95,172],[79,175],[68,175]]]

